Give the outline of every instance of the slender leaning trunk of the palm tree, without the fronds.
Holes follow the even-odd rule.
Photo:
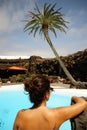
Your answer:
[[[51,49],[52,49],[54,55],[56,56],[56,59],[58,60],[58,62],[59,62],[59,64],[60,64],[61,68],[63,69],[63,71],[65,72],[66,76],[67,76],[68,79],[71,81],[71,83],[72,83],[73,85],[77,86],[77,85],[78,85],[78,82],[77,82],[77,81],[72,77],[72,75],[69,73],[69,71],[68,71],[67,68],[65,67],[64,63],[61,61],[61,59],[60,59],[60,57],[59,57],[59,55],[58,55],[56,49],[54,48],[54,46],[53,46],[53,44],[52,44],[52,42],[51,42],[51,40],[50,40],[50,37],[49,37],[49,34],[48,34],[48,30],[47,30],[47,29],[43,29],[43,31],[44,31],[44,36],[45,36],[45,38],[46,38],[48,44],[50,45],[50,47],[51,47]]]

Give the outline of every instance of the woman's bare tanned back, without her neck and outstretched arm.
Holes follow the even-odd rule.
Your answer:
[[[18,130],[56,130],[53,110],[46,107],[21,110],[16,120],[20,127]]]

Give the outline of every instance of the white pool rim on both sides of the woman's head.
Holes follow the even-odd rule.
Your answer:
[[[54,92],[60,95],[70,95],[70,96],[85,96],[87,97],[87,89],[75,89],[75,88],[64,88],[61,86],[51,86],[54,88]],[[24,84],[16,85],[3,85],[0,87],[1,91],[20,91],[24,90]]]

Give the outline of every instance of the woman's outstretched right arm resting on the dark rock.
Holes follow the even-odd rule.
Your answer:
[[[77,116],[87,108],[87,102],[83,98],[73,96],[72,100],[74,100],[76,104],[55,109],[56,120],[58,120],[60,124],[70,118]]]

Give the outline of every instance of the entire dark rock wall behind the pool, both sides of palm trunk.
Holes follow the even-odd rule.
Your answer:
[[[87,82],[87,49],[65,57],[62,56],[61,59],[76,80]],[[31,56],[29,59],[0,59],[0,78],[7,67],[14,65],[25,67],[29,74],[47,74],[66,78],[55,58],[40,56]]]

